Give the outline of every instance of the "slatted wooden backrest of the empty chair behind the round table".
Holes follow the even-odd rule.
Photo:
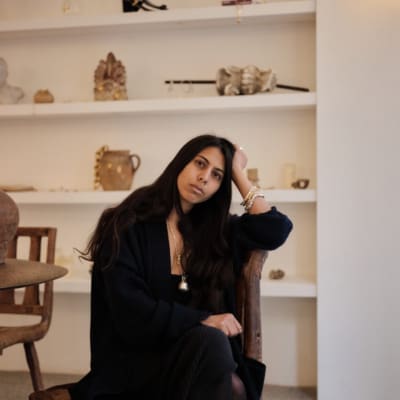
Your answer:
[[[30,261],[44,261],[54,264],[57,229],[51,227],[19,227],[17,233],[8,246],[7,258],[18,257],[18,239],[29,238]],[[42,240],[47,238],[45,253],[42,257]],[[24,288],[22,303],[16,303],[15,290],[0,291],[0,313],[39,315],[42,323],[50,325],[53,304],[53,282],[44,284],[43,300],[40,300],[39,285],[31,285]]]

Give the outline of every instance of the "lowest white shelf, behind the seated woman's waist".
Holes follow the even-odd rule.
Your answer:
[[[90,277],[77,278],[67,275],[54,281],[54,291],[56,293],[90,293]],[[260,292],[261,297],[317,297],[315,282],[304,278],[285,277],[276,281],[262,279]]]

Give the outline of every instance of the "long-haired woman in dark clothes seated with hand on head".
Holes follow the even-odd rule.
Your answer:
[[[228,140],[198,136],[153,184],[104,211],[84,253],[93,261],[91,371],[73,399],[259,397],[233,287],[248,251],[279,247],[292,224],[251,186],[246,164]],[[240,217],[229,214],[232,181]]]

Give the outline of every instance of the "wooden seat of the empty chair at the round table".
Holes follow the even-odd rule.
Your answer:
[[[34,342],[47,332],[45,324],[24,326],[0,326],[0,352],[17,343]]]

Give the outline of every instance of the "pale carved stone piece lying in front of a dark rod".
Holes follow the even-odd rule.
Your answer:
[[[272,69],[263,70],[255,65],[229,66],[218,70],[216,84],[220,95],[235,96],[273,90],[277,79]]]

